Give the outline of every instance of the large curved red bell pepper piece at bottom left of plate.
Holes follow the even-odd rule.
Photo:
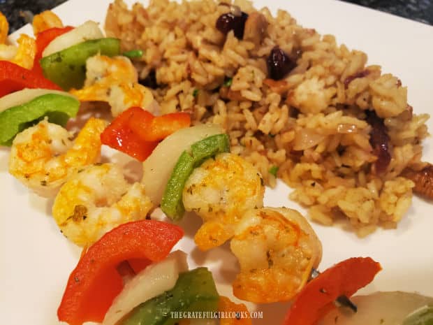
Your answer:
[[[102,322],[122,291],[123,261],[161,261],[183,236],[179,226],[155,220],[122,224],[91,245],[69,276],[57,316],[69,325]],[[145,263],[146,264],[146,263]]]

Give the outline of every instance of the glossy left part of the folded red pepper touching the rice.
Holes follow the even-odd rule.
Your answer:
[[[140,118],[142,111],[144,112],[142,108],[133,107],[116,117],[101,134],[101,143],[129,154],[140,161],[145,161],[158,145],[158,142],[143,141],[130,129],[129,123]]]

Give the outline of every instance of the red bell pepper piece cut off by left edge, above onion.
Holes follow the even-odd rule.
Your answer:
[[[61,90],[43,75],[8,61],[0,61],[0,97],[24,88]]]

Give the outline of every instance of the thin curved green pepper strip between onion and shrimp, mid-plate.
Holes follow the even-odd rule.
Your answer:
[[[177,160],[161,200],[161,210],[173,220],[182,219],[184,215],[182,192],[193,169],[203,164],[206,159],[221,152],[229,152],[230,142],[226,134],[216,134],[193,143],[190,151],[191,153],[182,152]]]

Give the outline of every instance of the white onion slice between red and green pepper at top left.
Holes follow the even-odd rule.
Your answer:
[[[71,48],[71,46],[77,45],[85,41],[103,37],[104,34],[99,28],[98,23],[88,20],[77,28],[74,28],[63,35],[54,38],[54,40],[52,40],[51,43],[47,45],[45,50],[43,50],[42,57],[47,57],[48,55],[60,52],[61,50],[64,50],[66,48]]]

